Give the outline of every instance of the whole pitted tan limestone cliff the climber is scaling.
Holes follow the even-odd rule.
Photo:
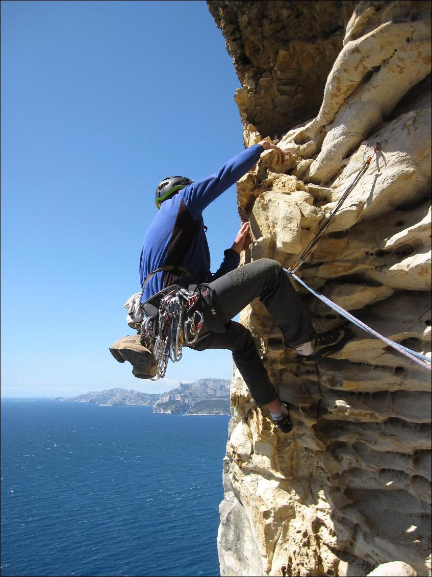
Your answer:
[[[372,153],[298,272],[381,334],[430,357],[430,2],[210,1],[243,88],[238,182],[244,261],[288,267]],[[346,323],[303,288],[318,329]],[[430,372],[354,327],[306,366],[260,302],[241,314],[291,404],[279,433],[238,372],[218,534],[221,575],[367,575],[391,561],[430,575]]]

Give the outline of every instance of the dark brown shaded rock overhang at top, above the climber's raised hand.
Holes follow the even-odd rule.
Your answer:
[[[275,134],[316,113],[354,2],[207,3],[242,84],[242,121]]]

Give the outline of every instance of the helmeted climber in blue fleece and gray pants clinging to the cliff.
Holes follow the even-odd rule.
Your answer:
[[[268,258],[238,267],[240,253],[249,234],[249,223],[243,223],[232,246],[225,250],[218,271],[210,273],[210,253],[205,235],[202,212],[211,202],[246,174],[264,150],[276,152],[281,166],[289,152],[262,140],[226,162],[215,174],[199,181],[185,177],[165,178],[156,190],[159,209],[147,230],[139,273],[141,286],[147,276],[161,267],[181,266],[192,273],[192,279],[183,269],[154,273],[145,283],[141,302],[172,284],[199,286],[203,299],[204,324],[194,350],[228,349],[258,406],[266,406],[271,417],[284,433],[292,429],[289,407],[279,399],[268,378],[251,332],[233,321],[242,309],[259,297],[282,331],[285,344],[293,347],[306,364],[314,364],[342,348],[350,334],[339,329],[321,335],[314,334],[308,310],[300,301],[281,264]],[[139,336],[116,342],[112,354],[117,360],[135,365],[139,376]]]

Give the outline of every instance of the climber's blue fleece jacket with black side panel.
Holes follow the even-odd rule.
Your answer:
[[[187,268],[194,276],[190,282],[196,284],[211,282],[238,267],[240,256],[234,250],[227,249],[218,271],[214,274],[210,272],[210,252],[202,212],[246,174],[262,152],[260,144],[247,148],[210,177],[185,186],[161,204],[144,237],[139,261],[141,286],[150,272],[166,265]],[[147,282],[141,302],[178,282],[179,278],[180,273],[176,271],[157,272]]]

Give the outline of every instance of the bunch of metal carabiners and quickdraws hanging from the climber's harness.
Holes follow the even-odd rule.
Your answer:
[[[157,361],[157,373],[151,380],[163,379],[168,361],[180,361],[183,346],[191,346],[198,339],[203,315],[195,310],[188,316],[198,299],[196,291],[176,288],[161,299],[157,314],[142,321],[142,339],[147,347],[153,347]]]

